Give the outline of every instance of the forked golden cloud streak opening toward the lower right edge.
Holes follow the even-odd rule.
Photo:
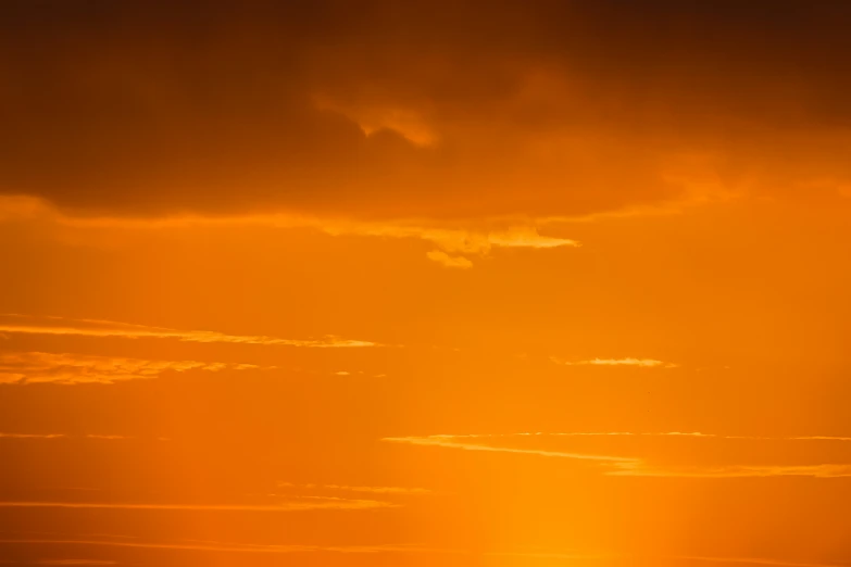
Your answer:
[[[597,462],[603,467],[603,474],[614,477],[668,477],[668,478],[767,478],[767,477],[812,477],[812,478],[844,478],[851,477],[851,464],[815,464],[815,465],[726,465],[726,466],[671,466],[655,465],[639,457],[573,453],[541,449],[525,449],[516,446],[498,446],[487,444],[487,440],[511,439],[524,437],[574,437],[574,436],[656,436],[684,438],[717,438],[748,439],[754,441],[848,441],[843,437],[746,437],[746,436],[713,436],[704,433],[630,433],[630,432],[595,432],[595,433],[493,433],[493,434],[435,434],[428,437],[385,438],[390,443],[405,443],[422,446],[441,446],[465,451],[484,451],[492,453],[514,453],[545,457],[568,458],[579,462]],[[476,442],[475,440],[479,440]]]

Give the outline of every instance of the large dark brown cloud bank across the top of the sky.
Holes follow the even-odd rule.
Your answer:
[[[0,191],[76,213],[561,216],[851,188],[846,2],[0,10]]]

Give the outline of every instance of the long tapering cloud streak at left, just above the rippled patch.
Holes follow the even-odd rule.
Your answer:
[[[126,339],[175,339],[185,342],[222,342],[237,344],[272,344],[317,349],[377,346],[374,342],[324,337],[322,339],[281,339],[278,337],[225,335],[205,330],[177,330],[165,327],[133,325],[113,320],[73,319],[65,317],[34,317],[0,315],[0,331],[26,335],[73,335],[79,337],[122,337]]]

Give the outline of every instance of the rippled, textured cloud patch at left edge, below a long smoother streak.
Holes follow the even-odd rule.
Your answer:
[[[113,383],[124,380],[157,378],[165,371],[220,371],[225,369],[249,370],[264,367],[254,364],[149,361],[68,353],[0,353],[0,383]]]

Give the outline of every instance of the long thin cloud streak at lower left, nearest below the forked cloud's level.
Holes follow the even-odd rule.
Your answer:
[[[377,500],[352,500],[324,496],[291,497],[277,504],[145,504],[113,502],[0,502],[0,508],[91,508],[151,509],[199,512],[301,512],[313,509],[378,509],[398,504]]]

